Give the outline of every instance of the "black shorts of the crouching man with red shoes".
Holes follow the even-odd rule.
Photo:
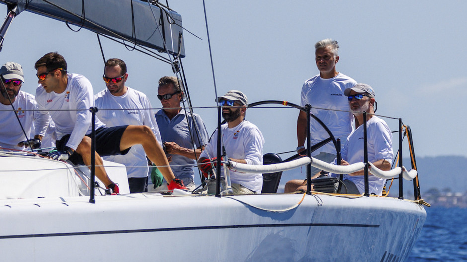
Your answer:
[[[116,127],[102,127],[96,130],[96,152],[100,156],[108,155],[126,155],[130,151],[131,147],[120,151],[120,140],[122,139],[123,132],[127,129],[128,125],[125,126],[116,126]],[[91,137],[90,134],[86,136]],[[55,147],[57,150],[65,150],[65,146],[70,139],[70,135],[64,135],[60,140],[55,142]],[[84,164],[81,155],[77,152],[74,152],[70,158],[73,164]]]

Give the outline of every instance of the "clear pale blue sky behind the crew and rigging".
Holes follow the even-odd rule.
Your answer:
[[[208,42],[200,0],[169,1],[182,15],[186,58],[182,60],[195,107],[215,106]],[[374,87],[378,114],[401,117],[414,132],[418,156],[463,155],[467,144],[467,32],[465,1],[206,1],[218,93],[243,91],[250,102],[300,102],[305,80],[318,73],[314,43],[340,44],[337,70]],[[6,6],[0,5],[6,16]],[[157,80],[170,66],[103,39],[106,58],[128,65],[127,85],[148,95],[154,108]],[[25,72],[23,89],[34,94],[34,62],[58,51],[69,71],[85,75],[94,92],[105,88],[103,60],[94,33],[72,32],[63,22],[21,13],[6,35],[0,63],[15,61]],[[216,110],[195,109],[208,131]],[[266,140],[265,152],[294,150],[297,110],[255,109],[247,119]],[[388,120],[392,130],[397,122]],[[396,135],[395,135],[396,136]],[[394,137],[396,142],[396,137]],[[405,153],[405,156],[408,154]]]

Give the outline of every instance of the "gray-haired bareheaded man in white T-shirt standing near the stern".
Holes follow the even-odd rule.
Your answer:
[[[301,106],[310,104],[312,106],[310,113],[323,121],[336,139],[340,138],[341,141],[345,141],[353,131],[354,117],[348,112],[332,110],[349,110],[344,90],[353,87],[357,82],[336,70],[336,64],[339,61],[337,41],[330,38],[324,39],[317,42],[314,47],[319,74],[303,84],[300,103]],[[313,119],[310,121],[310,136],[311,146],[329,137],[322,126]],[[305,153],[306,138],[307,113],[300,111],[297,119],[297,152],[303,151],[302,154]],[[336,149],[334,144],[329,142],[312,152],[311,156],[325,162],[331,162],[336,157]],[[318,169],[311,168],[311,174],[317,171]],[[289,182],[292,183],[292,181]],[[301,184],[301,182],[299,184],[289,182],[288,185],[286,184],[285,192],[293,191]]]

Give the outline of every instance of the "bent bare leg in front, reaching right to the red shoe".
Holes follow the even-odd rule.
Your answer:
[[[148,126],[129,125],[120,140],[120,151],[137,144],[143,146],[149,160],[156,164],[167,183],[175,179],[162,146],[157,142],[156,136]]]

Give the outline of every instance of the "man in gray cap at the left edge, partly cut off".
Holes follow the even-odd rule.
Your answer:
[[[33,95],[21,91],[24,83],[22,66],[7,62],[1,66],[0,77],[0,110],[5,110],[0,114],[0,150],[24,150],[29,145],[40,147],[39,139],[28,137],[37,117],[33,111],[36,102]]]

